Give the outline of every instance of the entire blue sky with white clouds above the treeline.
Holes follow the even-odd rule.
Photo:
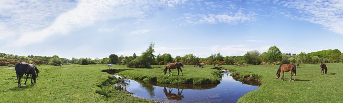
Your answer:
[[[343,50],[340,0],[0,1],[0,52],[71,59]]]

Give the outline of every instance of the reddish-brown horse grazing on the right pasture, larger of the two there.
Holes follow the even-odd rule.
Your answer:
[[[276,79],[279,79],[280,77],[280,72],[282,72],[282,80],[285,79],[283,77],[283,72],[289,72],[291,71],[291,80],[292,80],[292,77],[293,77],[293,73],[294,73],[294,81],[295,81],[295,75],[296,75],[296,66],[294,64],[281,64],[279,69],[277,69],[277,72],[276,72]],[[289,80],[289,81],[291,81]]]

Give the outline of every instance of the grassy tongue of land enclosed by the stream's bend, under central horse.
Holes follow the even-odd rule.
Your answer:
[[[161,65],[161,67],[164,67]],[[220,70],[210,69],[209,66],[204,68],[194,68],[194,66],[185,65],[182,69],[183,76],[177,76],[177,69],[171,70],[173,76],[163,75],[164,68],[153,68],[153,69],[138,69],[138,70],[125,70],[117,73],[117,75],[125,76],[128,78],[143,80],[143,81],[156,81],[158,83],[166,84],[193,84],[193,85],[204,85],[204,84],[217,84],[220,82],[220,78],[215,77],[214,72]]]

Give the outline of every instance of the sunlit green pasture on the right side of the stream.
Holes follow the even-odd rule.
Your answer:
[[[249,92],[238,102],[341,102],[343,101],[342,63],[327,63],[328,74],[320,75],[319,64],[300,64],[296,81],[288,82],[291,75],[285,72],[285,80],[276,78],[274,66],[220,66],[234,69],[234,74],[259,75],[263,83],[258,90]],[[294,77],[293,77],[294,79]]]

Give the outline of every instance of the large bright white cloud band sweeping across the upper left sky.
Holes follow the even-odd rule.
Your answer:
[[[70,31],[80,30],[82,28],[92,26],[99,21],[132,19],[137,22],[142,22],[145,20],[145,17],[155,14],[160,10],[160,8],[174,7],[177,4],[183,3],[186,3],[186,1],[81,0],[77,3],[76,7],[73,7],[73,9],[69,11],[63,8],[62,10],[53,10],[54,12],[44,12],[44,10],[49,9],[47,7],[50,6],[49,4],[46,4],[46,2],[40,4],[36,4],[35,2],[28,2],[27,4],[22,5],[21,2],[8,3],[7,1],[0,1],[1,5],[5,5],[0,6],[0,8],[2,7],[2,11],[9,12],[0,12],[1,15],[4,15],[5,18],[11,17],[9,20],[0,20],[0,39],[8,38],[8,36],[6,35],[9,35],[8,33],[10,32],[4,32],[4,30],[12,27],[12,31],[16,31],[18,26],[21,27],[19,29],[23,29],[25,31],[17,32],[16,34],[11,34],[19,35],[19,39],[15,40],[14,42],[8,42],[7,45],[24,46],[27,44],[44,41],[45,38],[53,35],[64,35],[69,33]],[[51,4],[54,4],[54,2],[52,2]],[[18,8],[17,11],[12,11],[12,8],[16,6],[18,7],[18,5],[19,7],[20,5],[22,5],[22,7],[31,7],[32,5],[45,5],[45,7],[36,8],[32,6],[31,8]],[[68,4],[57,3],[57,5],[66,6]],[[53,8],[58,7],[53,6]],[[59,12],[56,13],[56,11]],[[29,15],[29,17],[26,17],[26,14]],[[24,17],[24,19],[22,17]],[[26,20],[25,17],[31,19]],[[18,19],[16,20],[12,18]],[[4,22],[6,22],[7,24]],[[111,29],[100,29],[98,31],[111,31]],[[150,30],[141,31],[141,33],[146,33],[148,31]]]

